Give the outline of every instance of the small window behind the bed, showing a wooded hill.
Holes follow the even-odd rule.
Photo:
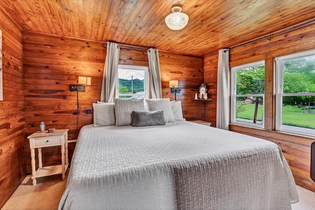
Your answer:
[[[148,98],[148,67],[118,65],[117,98]]]

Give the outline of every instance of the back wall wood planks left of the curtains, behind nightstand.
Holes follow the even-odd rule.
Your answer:
[[[93,113],[88,110],[100,98],[105,56],[101,42],[23,32],[26,136],[38,131],[44,121],[46,129],[68,128],[68,137],[76,139],[82,126],[93,123]],[[69,85],[78,84],[78,76],[92,77],[92,82],[85,92],[78,92],[77,115],[77,92],[71,92]],[[75,143],[69,144],[69,160],[74,147]],[[60,146],[43,148],[43,166],[61,164],[60,154]],[[29,142],[26,160],[31,173]]]

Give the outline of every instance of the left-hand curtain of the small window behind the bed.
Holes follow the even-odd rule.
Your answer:
[[[100,93],[101,102],[113,102],[118,72],[119,51],[120,47],[118,44],[107,42],[107,54]]]

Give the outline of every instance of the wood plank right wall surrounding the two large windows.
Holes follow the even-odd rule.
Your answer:
[[[315,138],[291,135],[274,131],[275,128],[275,69],[274,58],[315,49],[315,25],[292,30],[244,47],[231,50],[230,67],[265,60],[265,129],[257,129],[230,124],[230,130],[263,138],[278,144],[284,152],[295,182],[315,192],[315,182],[310,178],[311,143]],[[217,75],[218,55],[204,58],[205,83],[212,84],[212,76]],[[214,81],[214,79],[213,79]],[[216,109],[216,104],[205,107],[205,113]],[[216,113],[206,116],[215,122]]]

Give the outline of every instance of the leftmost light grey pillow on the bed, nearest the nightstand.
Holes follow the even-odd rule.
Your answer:
[[[114,103],[93,103],[94,126],[115,125]]]

